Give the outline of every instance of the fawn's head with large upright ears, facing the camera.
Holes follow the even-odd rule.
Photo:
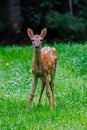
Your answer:
[[[34,35],[33,30],[28,28],[27,33],[28,33],[28,36],[30,37],[30,39],[32,41],[34,48],[40,48],[40,46],[42,44],[42,40],[46,36],[47,29],[46,28],[42,29],[40,35],[38,35],[38,34]]]

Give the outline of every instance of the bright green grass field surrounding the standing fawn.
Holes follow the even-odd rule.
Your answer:
[[[54,44],[58,52],[55,77],[57,108],[49,109],[46,92],[30,112],[32,46],[0,47],[0,130],[86,130],[87,44]],[[39,82],[40,84],[40,82]]]

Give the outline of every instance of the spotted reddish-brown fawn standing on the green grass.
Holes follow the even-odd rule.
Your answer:
[[[46,85],[46,94],[49,100],[50,107],[52,106],[51,98],[50,98],[50,90],[52,91],[53,104],[54,106],[56,106],[56,101],[54,97],[54,76],[55,76],[55,70],[57,64],[56,50],[48,46],[41,49],[42,40],[47,33],[46,28],[44,28],[41,31],[40,35],[38,34],[34,35],[33,31],[30,28],[27,29],[27,33],[34,47],[34,59],[32,62],[33,82],[32,82],[30,99],[28,102],[28,110],[30,109],[31,102],[34,97],[38,78],[41,79],[42,84],[41,84],[40,96],[37,105],[40,104],[43,90]]]

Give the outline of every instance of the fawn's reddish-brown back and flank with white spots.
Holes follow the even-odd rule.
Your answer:
[[[54,48],[44,47],[41,49],[43,67],[47,74],[55,72],[56,63],[57,63],[57,53]]]

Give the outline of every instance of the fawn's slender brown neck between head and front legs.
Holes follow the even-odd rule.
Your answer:
[[[35,50],[34,52],[34,62],[35,62],[35,71],[36,73],[42,73],[42,57],[41,49]]]

